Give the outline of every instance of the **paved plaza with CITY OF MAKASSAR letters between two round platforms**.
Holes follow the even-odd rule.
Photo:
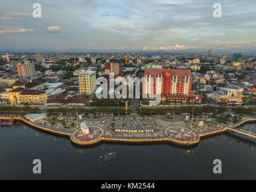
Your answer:
[[[49,116],[46,119],[37,121],[37,124],[50,127],[66,133],[71,133],[74,140],[78,142],[89,142],[100,137],[109,139],[172,139],[193,142],[200,134],[221,130],[223,125],[214,125],[207,121],[203,126],[198,127],[202,119],[196,119],[191,124],[184,119],[184,115],[169,118],[170,115],[156,116],[113,116],[99,115],[83,116],[79,122],[85,122],[90,128],[90,134],[84,135],[79,127],[75,116],[59,115]],[[64,124],[65,122],[65,124]],[[192,125],[192,126],[191,126]]]

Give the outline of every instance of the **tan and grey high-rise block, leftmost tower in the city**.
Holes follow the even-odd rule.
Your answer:
[[[17,64],[17,70],[20,80],[29,81],[37,78],[35,65],[28,61],[26,61],[25,64]]]

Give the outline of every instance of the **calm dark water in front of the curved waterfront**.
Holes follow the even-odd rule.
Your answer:
[[[226,134],[202,140],[190,152],[172,145],[78,148],[19,123],[0,127],[0,179],[256,179],[255,148]],[[112,151],[116,157],[105,162]],[[221,175],[213,173],[216,158]],[[32,173],[34,159],[42,162],[41,175]]]

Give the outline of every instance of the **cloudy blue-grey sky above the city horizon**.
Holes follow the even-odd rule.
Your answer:
[[[255,18],[255,0],[1,0],[0,51],[255,52]]]

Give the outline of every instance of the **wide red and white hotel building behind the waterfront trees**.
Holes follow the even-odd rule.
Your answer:
[[[181,103],[200,103],[202,96],[191,95],[191,70],[145,69],[143,93],[161,95],[161,100]]]

